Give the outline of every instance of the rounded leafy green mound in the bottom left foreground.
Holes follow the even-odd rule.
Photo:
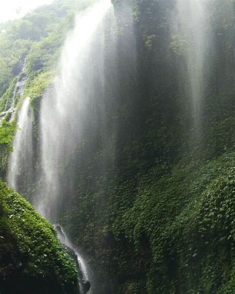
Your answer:
[[[52,225],[0,182],[0,292],[78,294],[77,270]]]

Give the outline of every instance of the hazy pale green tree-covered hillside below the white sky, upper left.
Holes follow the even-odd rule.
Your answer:
[[[25,59],[28,73],[26,93],[29,95],[32,91],[32,99],[35,99],[31,83],[34,87],[34,78],[40,74],[41,79],[46,73],[47,76],[54,74],[61,45],[74,23],[76,11],[86,8],[91,2],[57,0],[35,9],[22,19],[0,24],[0,111],[6,111],[10,106],[14,78],[21,73]],[[50,82],[48,78],[44,89]]]

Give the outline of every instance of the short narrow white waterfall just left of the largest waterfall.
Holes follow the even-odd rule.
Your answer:
[[[24,189],[30,187],[33,166],[33,122],[29,97],[24,99],[17,117],[18,129],[8,164],[7,184],[17,192],[24,193]]]

